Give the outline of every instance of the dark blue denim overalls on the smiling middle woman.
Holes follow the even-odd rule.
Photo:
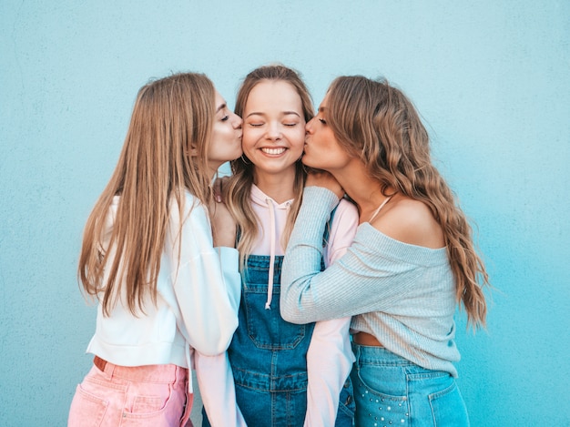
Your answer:
[[[307,412],[307,351],[314,323],[296,325],[280,315],[282,256],[275,257],[273,299],[265,310],[269,256],[249,256],[243,272],[239,326],[228,357],[236,400],[250,426],[302,426]],[[337,427],[351,426],[354,412],[350,379],[340,396]],[[209,425],[204,417],[203,425]]]

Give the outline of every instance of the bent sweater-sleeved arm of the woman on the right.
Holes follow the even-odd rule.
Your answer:
[[[308,187],[283,262],[280,308],[293,323],[338,319],[390,310],[402,290],[420,274],[402,244],[362,224],[347,253],[321,272],[321,236],[338,198],[326,188]],[[417,256],[417,254],[415,254]]]

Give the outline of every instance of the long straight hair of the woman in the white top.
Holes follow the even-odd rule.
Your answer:
[[[79,257],[78,278],[87,295],[102,300],[105,315],[121,293],[133,314],[144,313],[148,295],[156,304],[172,199],[182,220],[185,189],[206,206],[211,198],[207,153],[214,115],[215,89],[201,74],[168,76],[138,91],[117,167],[87,219]],[[104,247],[115,196],[117,216]],[[111,248],[116,254],[109,259]]]

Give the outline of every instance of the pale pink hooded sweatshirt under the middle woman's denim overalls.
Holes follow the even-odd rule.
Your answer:
[[[251,203],[260,219],[258,239],[253,255],[280,256],[285,253],[281,237],[292,199],[277,203],[260,188],[251,188]],[[331,223],[328,244],[323,249],[328,267],[346,252],[358,227],[358,210],[348,200],[341,200]],[[273,262],[270,262],[273,266]],[[273,271],[270,270],[270,289],[266,305],[270,307]],[[351,351],[349,327],[351,318],[319,321],[316,323],[307,352],[307,415],[305,426],[334,425],[342,386],[351,372],[354,355]],[[213,427],[244,426],[236,404],[234,382],[225,353],[219,356],[195,357],[196,374],[202,402]],[[235,421],[235,422],[234,422]]]

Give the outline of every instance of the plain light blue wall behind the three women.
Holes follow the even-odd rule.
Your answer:
[[[341,74],[412,97],[497,289],[488,332],[459,317],[473,426],[570,425],[570,3],[554,0],[4,0],[0,423],[64,425],[90,365],[77,254],[138,87],[202,71],[233,105],[272,61],[316,103]]]

